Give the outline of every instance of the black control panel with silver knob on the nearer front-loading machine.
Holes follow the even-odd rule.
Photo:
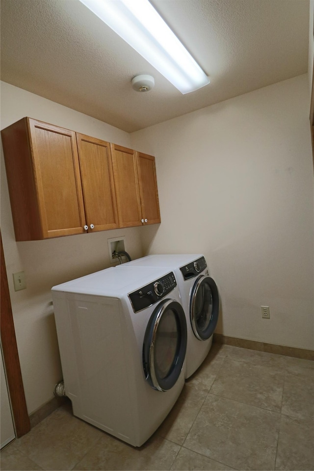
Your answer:
[[[143,286],[142,288],[129,293],[128,296],[134,313],[142,311],[142,309],[148,308],[157,303],[159,299],[162,299],[164,296],[169,294],[174,288],[176,288],[176,286],[176,278],[174,273],[171,271],[149,285]]]

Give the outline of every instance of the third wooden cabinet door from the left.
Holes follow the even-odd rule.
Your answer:
[[[110,145],[119,227],[141,226],[136,153],[126,147]]]

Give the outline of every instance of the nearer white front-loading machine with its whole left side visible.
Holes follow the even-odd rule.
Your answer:
[[[52,288],[73,413],[140,446],[184,385],[186,319],[174,273],[116,267]]]

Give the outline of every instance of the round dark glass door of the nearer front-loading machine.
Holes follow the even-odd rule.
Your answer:
[[[187,330],[183,307],[174,299],[160,302],[147,324],[143,343],[146,380],[158,391],[177,382],[186,352]]]

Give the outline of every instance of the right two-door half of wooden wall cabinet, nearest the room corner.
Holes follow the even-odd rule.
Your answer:
[[[120,227],[160,222],[155,157],[111,144]]]

